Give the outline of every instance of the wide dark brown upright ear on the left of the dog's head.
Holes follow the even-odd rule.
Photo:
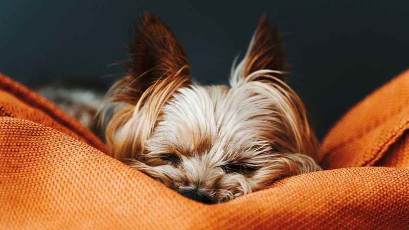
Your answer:
[[[190,83],[189,63],[185,51],[163,21],[151,13],[144,13],[129,41],[131,61],[126,63],[129,74],[126,85],[116,101],[137,102],[152,86]],[[167,85],[168,85],[167,84]],[[173,91],[173,90],[172,90]]]

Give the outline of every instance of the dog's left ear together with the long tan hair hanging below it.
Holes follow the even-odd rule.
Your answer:
[[[106,106],[113,107],[105,136],[109,154],[116,158],[138,158],[144,152],[163,105],[191,82],[183,48],[153,14],[141,17],[129,50],[129,72],[111,87]],[[107,120],[104,117],[102,112]]]

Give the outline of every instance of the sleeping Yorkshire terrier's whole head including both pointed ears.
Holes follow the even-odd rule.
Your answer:
[[[260,21],[231,87],[190,81],[162,21],[141,19],[130,71],[111,89],[109,153],[189,198],[217,203],[319,170],[304,106],[283,81],[278,38]]]

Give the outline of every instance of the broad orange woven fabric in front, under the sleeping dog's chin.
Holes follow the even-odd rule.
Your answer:
[[[0,109],[0,229],[409,227],[409,169],[307,173],[226,203],[202,204],[97,150],[103,150],[99,141],[78,123],[64,123],[69,118],[55,107],[35,101],[26,106],[49,118]]]

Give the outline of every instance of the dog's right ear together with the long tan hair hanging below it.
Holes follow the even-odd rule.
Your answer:
[[[275,149],[315,156],[319,144],[308,124],[303,102],[283,81],[285,71],[286,61],[278,33],[263,16],[246,55],[233,68],[230,84],[232,87],[247,84],[245,87],[249,91],[275,102],[271,109],[274,114],[280,114],[281,125],[272,135],[277,139],[274,140]]]

